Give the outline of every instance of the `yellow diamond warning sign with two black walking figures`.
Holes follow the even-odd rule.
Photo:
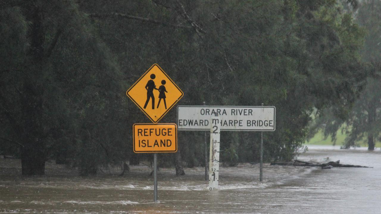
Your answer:
[[[152,65],[126,94],[154,123],[184,95],[157,64]]]

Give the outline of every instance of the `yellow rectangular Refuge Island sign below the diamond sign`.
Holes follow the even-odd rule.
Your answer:
[[[135,153],[177,152],[175,123],[136,123],[133,125]]]

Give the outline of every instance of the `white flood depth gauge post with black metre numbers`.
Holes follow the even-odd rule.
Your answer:
[[[209,190],[218,189],[220,120],[221,117],[211,117],[208,186]]]

